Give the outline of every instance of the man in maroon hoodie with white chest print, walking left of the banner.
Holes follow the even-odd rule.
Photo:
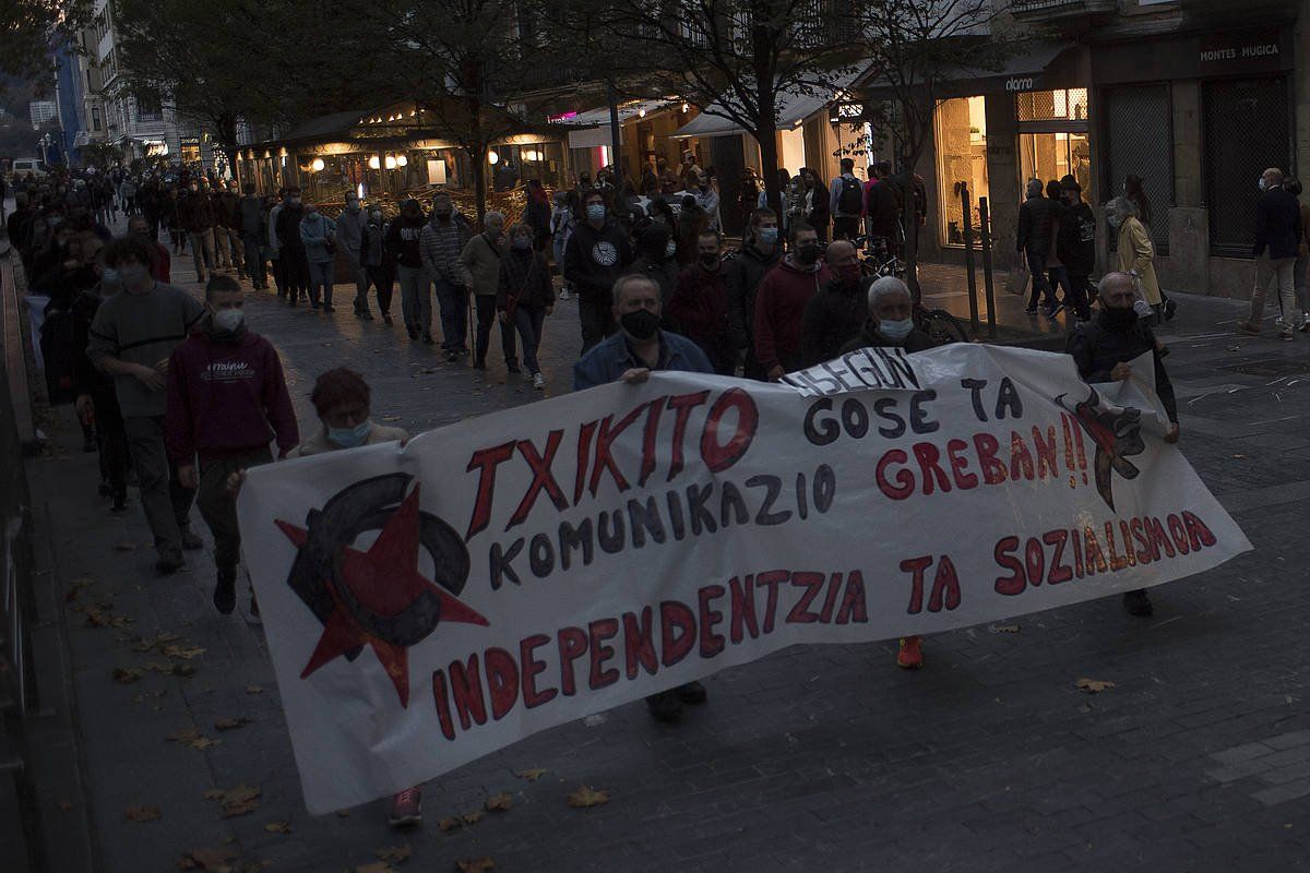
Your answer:
[[[282,360],[269,340],[246,329],[241,302],[236,279],[211,276],[206,317],[173,349],[168,368],[168,452],[182,486],[199,490],[195,503],[214,534],[217,565],[214,606],[224,615],[236,607],[241,559],[228,476],[272,461],[274,437],[279,458],[300,442]],[[253,597],[250,613],[259,614]]]

